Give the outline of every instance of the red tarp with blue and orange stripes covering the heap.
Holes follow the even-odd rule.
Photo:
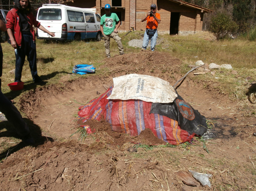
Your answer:
[[[176,120],[150,114],[151,102],[106,99],[111,95],[112,88],[99,98],[80,106],[79,121],[104,119],[111,124],[113,131],[130,136],[138,136],[145,128],[149,128],[156,137],[174,145],[190,141],[195,136],[182,130]]]

